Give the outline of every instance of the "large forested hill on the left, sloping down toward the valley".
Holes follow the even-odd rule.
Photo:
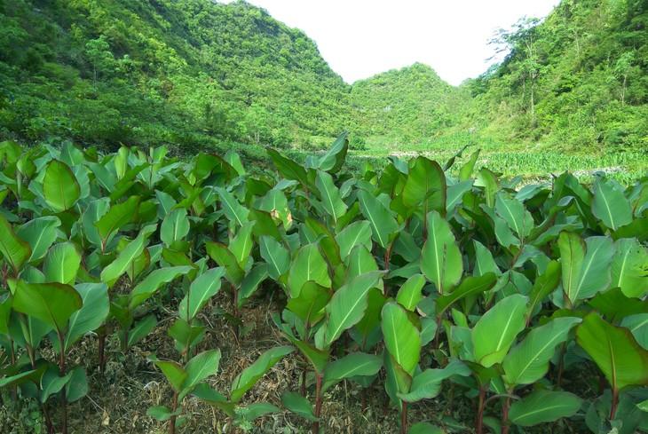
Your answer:
[[[244,2],[0,0],[0,83],[0,138],[279,146],[349,123],[312,40]]]

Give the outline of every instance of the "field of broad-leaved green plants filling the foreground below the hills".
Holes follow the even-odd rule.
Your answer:
[[[0,143],[0,432],[648,430],[642,155],[348,147]]]

